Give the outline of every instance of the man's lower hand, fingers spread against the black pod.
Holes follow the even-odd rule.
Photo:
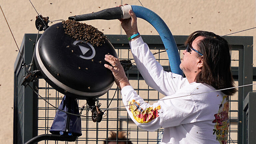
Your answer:
[[[110,69],[114,75],[116,85],[122,89],[124,86],[130,85],[128,78],[125,75],[124,68],[121,65],[118,58],[112,55],[105,55],[105,60],[109,62],[112,66],[104,64],[104,66]]]

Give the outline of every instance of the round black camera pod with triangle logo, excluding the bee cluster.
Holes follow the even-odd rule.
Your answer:
[[[73,39],[56,23],[36,44],[35,63],[45,81],[64,95],[92,99],[104,95],[113,85],[112,72],[104,67],[106,54],[118,57],[105,39],[102,46]]]

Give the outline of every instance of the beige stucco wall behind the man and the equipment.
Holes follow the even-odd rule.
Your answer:
[[[49,16],[50,20],[67,19],[68,16],[96,12],[118,4],[140,5],[138,0],[31,1],[37,11],[43,16]],[[255,0],[140,1],[144,7],[156,12],[166,22],[173,35],[189,35],[196,30],[212,31],[219,35],[225,35],[255,27]],[[0,5],[18,46],[21,45],[24,33],[37,33],[35,28],[35,16],[37,14],[29,0],[0,0]],[[13,69],[18,52],[15,51],[17,47],[2,13],[0,19],[0,143],[12,143]],[[32,22],[31,19],[33,19]],[[124,34],[118,20],[92,20],[86,21],[86,23],[99,30],[104,29],[104,34]],[[142,19],[138,20],[138,29],[143,35],[157,35],[156,30]],[[232,36],[256,36],[256,29]],[[254,57],[254,63],[255,61]]]

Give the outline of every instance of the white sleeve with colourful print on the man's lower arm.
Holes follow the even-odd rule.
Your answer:
[[[161,127],[174,127],[185,123],[195,122],[197,110],[191,97],[174,98],[187,93],[166,96],[150,105],[145,102],[131,86],[125,86],[122,97],[129,116],[140,128],[155,131]]]

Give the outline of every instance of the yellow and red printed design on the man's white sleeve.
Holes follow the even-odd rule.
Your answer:
[[[140,106],[140,103],[135,100],[129,101],[129,110],[132,112],[133,118],[139,123],[148,123],[157,117],[158,111],[161,109],[161,106],[148,107],[146,110],[143,110]]]

